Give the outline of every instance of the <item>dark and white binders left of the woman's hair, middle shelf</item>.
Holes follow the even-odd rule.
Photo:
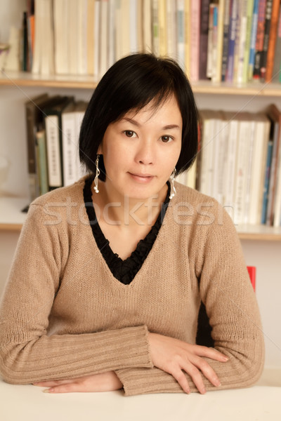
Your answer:
[[[30,201],[86,173],[78,147],[86,107],[73,97],[46,93],[25,102]]]

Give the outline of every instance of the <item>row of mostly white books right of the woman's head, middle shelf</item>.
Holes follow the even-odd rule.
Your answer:
[[[202,109],[197,181],[237,225],[281,225],[281,112]],[[184,182],[184,180],[183,180]]]

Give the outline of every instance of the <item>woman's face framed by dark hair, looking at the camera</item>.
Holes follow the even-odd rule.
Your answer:
[[[150,103],[110,123],[98,154],[103,154],[107,192],[131,199],[158,194],[181,153],[183,121],[176,98],[156,110]]]

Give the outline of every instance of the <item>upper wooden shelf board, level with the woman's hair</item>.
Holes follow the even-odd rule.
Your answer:
[[[4,72],[0,74],[0,86],[41,86],[46,88],[94,89],[98,79],[82,75],[43,76],[27,72]],[[255,95],[281,97],[281,83],[247,83],[234,85],[232,83],[214,83],[198,81],[192,83],[194,93],[210,95]]]

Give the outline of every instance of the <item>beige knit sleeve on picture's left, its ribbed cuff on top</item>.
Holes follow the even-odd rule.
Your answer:
[[[47,334],[53,300],[60,292],[60,272],[67,260],[67,250],[61,246],[64,235],[44,224],[41,206],[31,206],[1,300],[0,371],[4,380],[27,384],[119,368],[151,368],[146,326]]]

